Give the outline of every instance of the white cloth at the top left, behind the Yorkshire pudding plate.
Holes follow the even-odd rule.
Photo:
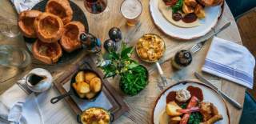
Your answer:
[[[32,7],[40,2],[40,0],[10,0],[13,2],[15,9],[17,10],[18,14],[23,10],[30,10]]]

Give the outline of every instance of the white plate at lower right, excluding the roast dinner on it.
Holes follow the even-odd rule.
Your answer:
[[[223,119],[216,122],[215,124],[230,123],[230,115],[226,106],[226,102],[224,102],[222,96],[218,94],[216,90],[213,90],[212,88],[210,88],[210,86],[206,86],[205,84],[202,84],[200,82],[178,82],[175,85],[170,86],[167,90],[163,91],[155,102],[152,114],[152,122],[154,124],[159,124],[160,115],[162,114],[162,111],[166,110],[167,94],[169,94],[170,91],[186,89],[188,86],[199,87],[202,90],[203,102],[212,102],[214,106],[218,108],[218,113],[222,114]]]

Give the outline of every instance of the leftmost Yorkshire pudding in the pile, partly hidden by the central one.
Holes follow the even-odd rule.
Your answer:
[[[25,10],[18,15],[18,26],[24,36],[27,38],[37,38],[34,30],[34,18],[37,18],[42,12],[38,10]]]

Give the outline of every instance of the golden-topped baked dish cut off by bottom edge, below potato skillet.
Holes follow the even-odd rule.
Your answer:
[[[82,124],[109,124],[110,113],[102,108],[92,107],[82,112]]]

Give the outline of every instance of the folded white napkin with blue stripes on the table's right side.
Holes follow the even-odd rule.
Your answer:
[[[202,71],[252,89],[254,66],[255,58],[246,47],[215,37]]]

